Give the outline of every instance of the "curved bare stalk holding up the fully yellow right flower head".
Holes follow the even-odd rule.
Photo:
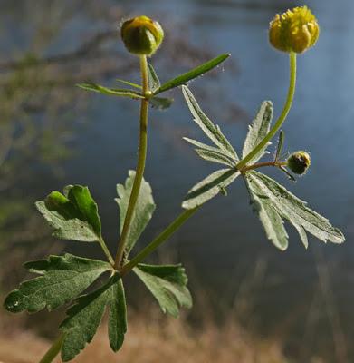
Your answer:
[[[289,83],[288,96],[286,98],[286,102],[282,109],[282,113],[279,116],[278,120],[274,123],[274,126],[270,130],[270,132],[268,132],[267,135],[263,138],[262,142],[260,142],[252,152],[246,155],[241,162],[238,162],[238,164],[236,165],[236,168],[238,170],[243,169],[244,166],[247,164],[247,162],[250,162],[254,158],[254,156],[258,152],[260,152],[268,142],[271,141],[275,133],[278,132],[279,129],[282,127],[282,123],[284,123],[286,116],[288,115],[290,109],[292,108],[292,100],[293,100],[293,95],[295,93],[295,85],[296,85],[296,53],[292,52],[291,54],[289,54],[289,57],[290,57],[290,83]]]

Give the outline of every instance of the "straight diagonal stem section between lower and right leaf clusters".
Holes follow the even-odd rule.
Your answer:
[[[156,250],[158,246],[160,246],[165,240],[167,240],[175,231],[178,230],[179,227],[184,224],[188,218],[190,218],[200,207],[196,207],[192,210],[182,211],[181,214],[177,217],[175,221],[173,221],[165,231],[162,231],[158,237],[150,242],[145,249],[141,250],[134,259],[130,260],[127,264],[125,264],[120,272],[121,275],[129,272],[129,270],[133,269],[138,265],[139,262],[144,260],[151,252]]]

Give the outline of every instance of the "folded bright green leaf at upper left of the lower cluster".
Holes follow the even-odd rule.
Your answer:
[[[63,195],[51,192],[44,201],[35,203],[46,221],[53,227],[53,236],[62,240],[100,241],[98,207],[87,187],[69,185]]]

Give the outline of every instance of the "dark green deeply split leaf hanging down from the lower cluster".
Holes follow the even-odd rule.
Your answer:
[[[127,331],[127,312],[123,285],[120,276],[115,274],[100,289],[81,296],[76,305],[68,309],[68,316],[60,327],[64,334],[62,361],[76,357],[91,342],[107,306],[110,307],[110,346],[114,350],[121,347]]]

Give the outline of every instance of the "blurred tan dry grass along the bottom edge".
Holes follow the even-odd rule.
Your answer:
[[[129,319],[124,347],[113,354],[103,326],[77,363],[285,363],[280,345],[254,338],[237,324],[191,329],[183,319]],[[31,332],[0,333],[0,363],[36,363],[49,342]],[[55,362],[59,363],[57,359]]]

